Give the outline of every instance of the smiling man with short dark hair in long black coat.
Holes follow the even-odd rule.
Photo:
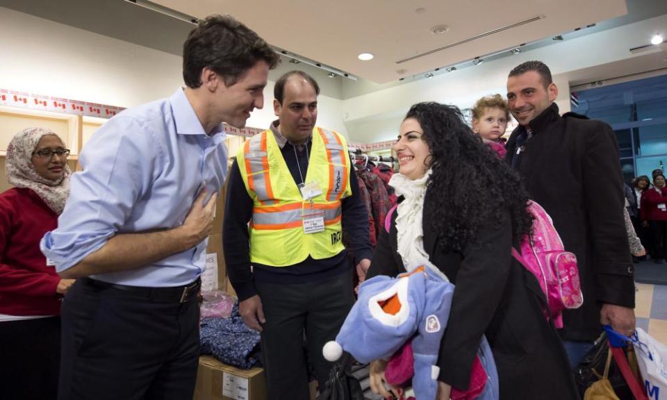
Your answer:
[[[565,249],[577,256],[584,305],[563,313],[561,331],[576,365],[600,335],[600,324],[634,332],[634,270],[614,131],[575,113],[561,117],[557,95],[543,63],[512,69],[507,99],[519,126],[507,142],[506,160],[552,217]]]

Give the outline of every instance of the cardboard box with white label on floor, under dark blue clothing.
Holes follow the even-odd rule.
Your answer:
[[[265,400],[264,369],[238,369],[211,356],[199,357],[194,400]]]

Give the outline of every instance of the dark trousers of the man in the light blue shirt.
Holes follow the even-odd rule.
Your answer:
[[[191,400],[199,304],[156,301],[79,279],[63,301],[60,400]]]

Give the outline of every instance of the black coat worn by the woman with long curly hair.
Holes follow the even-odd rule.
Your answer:
[[[579,399],[561,340],[542,313],[544,294],[536,278],[511,257],[509,211],[482,226],[476,244],[463,253],[438,246],[431,215],[427,203],[422,220],[425,251],[456,285],[440,344],[438,379],[466,390],[485,334],[498,369],[500,399]],[[396,216],[394,212],[389,233],[381,230],[368,278],[405,272],[397,253]]]

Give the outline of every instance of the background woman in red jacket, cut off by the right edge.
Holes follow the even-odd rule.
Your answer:
[[[653,233],[654,262],[662,264],[667,249],[667,189],[665,176],[653,178],[653,188],[641,195],[641,220],[643,226],[650,226]]]

